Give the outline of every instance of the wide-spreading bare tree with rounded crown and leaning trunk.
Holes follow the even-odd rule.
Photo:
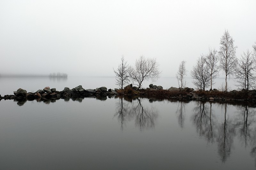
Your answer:
[[[159,64],[156,62],[156,58],[145,58],[143,55],[136,60],[135,66],[130,66],[128,69],[130,78],[138,83],[138,89],[140,89],[144,80],[151,79],[156,81],[162,71],[159,70]]]

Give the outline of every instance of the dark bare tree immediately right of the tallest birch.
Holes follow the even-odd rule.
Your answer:
[[[247,49],[238,60],[236,69],[236,82],[238,83],[236,86],[244,88],[246,93],[250,88],[255,86],[255,69],[255,57],[252,55],[252,52]]]

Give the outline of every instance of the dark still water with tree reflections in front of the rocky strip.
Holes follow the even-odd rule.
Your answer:
[[[147,98],[0,101],[0,169],[255,169],[255,108]]]

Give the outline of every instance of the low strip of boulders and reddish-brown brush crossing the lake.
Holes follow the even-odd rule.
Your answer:
[[[125,97],[125,98],[138,98],[146,97],[156,100],[180,100],[180,101],[214,101],[214,102],[247,102],[255,105],[256,103],[256,90],[245,90],[230,92],[221,92],[217,89],[210,91],[194,90],[193,88],[185,87],[184,89],[171,87],[168,90],[162,89],[162,86],[149,85],[147,89],[137,89],[131,85],[127,85],[124,89],[107,89],[106,87],[99,87],[96,89],[84,89],[82,85],[75,88],[65,87],[62,91],[57,91],[55,88],[45,87],[43,90],[36,92],[27,92],[19,88],[11,95],[1,96],[0,100],[37,100],[37,101],[56,101],[59,99],[64,100],[83,100],[86,97],[96,97],[100,100],[106,100],[111,97]]]

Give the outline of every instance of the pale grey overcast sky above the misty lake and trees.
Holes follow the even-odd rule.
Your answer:
[[[156,57],[161,77],[190,71],[225,29],[236,56],[256,41],[255,0],[1,0],[0,73],[115,76],[121,55]],[[189,77],[189,76],[188,76]]]

